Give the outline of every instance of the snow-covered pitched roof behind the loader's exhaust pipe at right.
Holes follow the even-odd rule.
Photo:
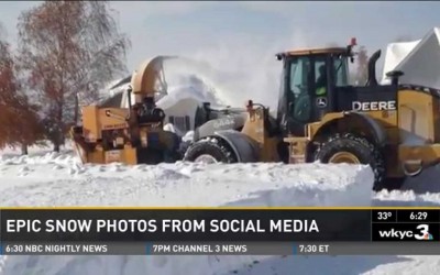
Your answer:
[[[402,70],[402,84],[421,85],[440,89],[440,28],[433,28],[421,40],[388,44],[383,79],[391,70]]]

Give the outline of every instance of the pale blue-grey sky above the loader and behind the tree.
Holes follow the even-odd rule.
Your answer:
[[[16,36],[18,15],[35,4],[36,1],[0,2],[0,22],[11,42]],[[220,46],[233,52],[249,45],[255,54],[272,56],[274,53],[268,51],[328,43],[344,45],[351,36],[373,52],[398,36],[419,38],[429,29],[440,26],[440,2],[113,1],[110,4],[119,13],[121,31],[132,41],[129,68],[158,54],[212,53]]]

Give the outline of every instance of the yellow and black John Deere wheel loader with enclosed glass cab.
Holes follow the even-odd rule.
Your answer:
[[[389,72],[380,85],[369,61],[369,79],[349,85],[346,47],[298,50],[276,55],[283,62],[277,112],[249,101],[241,131],[199,127],[184,161],[209,163],[350,163],[370,165],[374,189],[398,188],[440,160],[440,91],[399,84],[403,72]]]

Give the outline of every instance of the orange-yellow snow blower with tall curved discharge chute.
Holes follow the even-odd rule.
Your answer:
[[[173,57],[155,57],[133,74],[127,91],[129,108],[82,108],[82,125],[70,130],[82,163],[157,164],[182,158],[177,153],[179,139],[163,130],[165,113],[154,100],[167,58]],[[135,97],[133,105],[131,94]]]

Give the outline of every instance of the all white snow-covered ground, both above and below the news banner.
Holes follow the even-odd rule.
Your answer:
[[[433,172],[435,173],[435,172]],[[69,148],[0,153],[0,206],[438,206],[433,182],[374,194],[351,165],[80,165]],[[416,188],[417,193],[410,190]],[[425,188],[425,189],[424,189]],[[2,256],[0,274],[436,274],[439,256]]]

